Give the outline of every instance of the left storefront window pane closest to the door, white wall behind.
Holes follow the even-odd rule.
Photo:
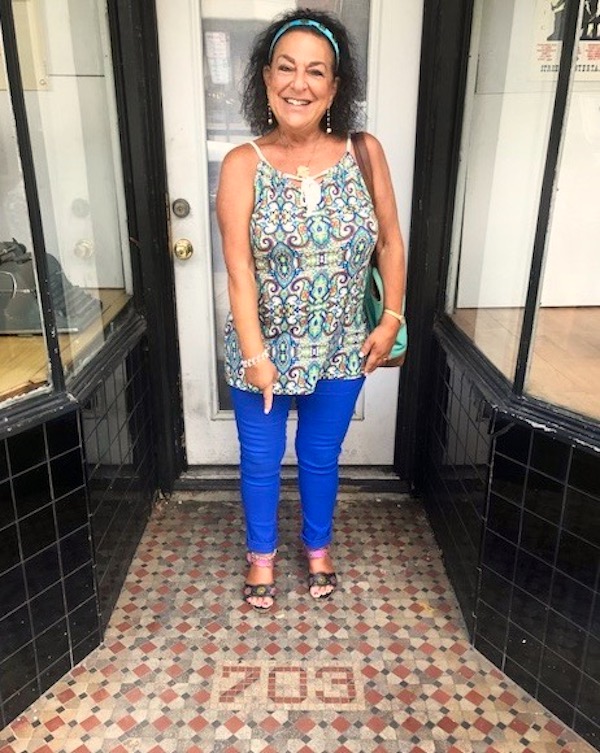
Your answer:
[[[69,376],[102,346],[132,291],[106,3],[13,0],[12,7],[48,285]],[[14,236],[31,250],[20,228]],[[40,333],[35,296],[29,303],[5,330],[23,348]]]

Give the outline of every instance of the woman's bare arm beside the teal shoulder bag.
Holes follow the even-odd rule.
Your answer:
[[[384,308],[400,314],[404,301],[406,262],[394,188],[381,144],[370,134],[366,134],[365,144],[373,167],[373,203],[379,223],[376,261],[383,279]],[[379,326],[371,332],[362,348],[367,356],[367,374],[380,366],[387,357],[399,327],[397,319],[390,314],[383,314]]]

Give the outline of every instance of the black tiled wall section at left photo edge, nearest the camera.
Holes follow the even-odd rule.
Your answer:
[[[100,642],[76,410],[0,441],[0,728]]]

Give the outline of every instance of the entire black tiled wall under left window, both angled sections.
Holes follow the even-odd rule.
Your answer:
[[[138,346],[0,441],[0,729],[100,643],[156,489],[149,400]]]

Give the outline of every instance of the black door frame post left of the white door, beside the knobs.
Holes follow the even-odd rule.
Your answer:
[[[108,20],[134,299],[147,321],[153,451],[159,488],[170,493],[187,460],[154,3],[108,0]]]

